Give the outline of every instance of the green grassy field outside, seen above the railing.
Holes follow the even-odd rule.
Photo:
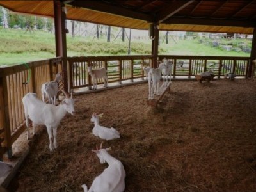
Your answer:
[[[24,31],[22,29],[5,29],[0,27],[0,65],[15,65],[29,61],[54,58],[55,37],[54,33],[45,31]],[[179,39],[165,44],[159,40],[159,54],[191,55],[191,56],[250,56],[252,40],[202,40]],[[235,49],[227,51],[221,46],[236,45]],[[247,52],[242,48],[246,47]],[[120,39],[93,38],[93,36],[75,36],[67,34],[67,56],[113,56],[127,55],[129,42]],[[151,40],[131,40],[131,55],[151,54]]]

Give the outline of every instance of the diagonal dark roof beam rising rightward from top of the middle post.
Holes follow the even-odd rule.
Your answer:
[[[177,1],[175,3],[170,4],[170,6],[167,6],[161,12],[159,12],[156,15],[156,22],[161,23],[164,20],[168,19],[169,17],[172,17],[175,13],[179,12],[189,4],[193,3],[195,0],[190,1]]]

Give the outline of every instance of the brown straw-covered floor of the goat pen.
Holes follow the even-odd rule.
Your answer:
[[[17,175],[17,191],[83,191],[107,164],[91,150],[93,113],[115,127],[104,141],[126,171],[125,191],[256,191],[256,82],[173,81],[158,109],[147,106],[148,84],[77,95],[76,114],[58,127],[49,152],[37,136]]]

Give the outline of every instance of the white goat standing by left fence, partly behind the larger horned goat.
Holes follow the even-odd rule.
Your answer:
[[[58,86],[61,79],[62,79],[62,73],[58,72],[58,74],[56,74],[55,76],[54,81],[49,81],[42,84],[41,92],[42,92],[43,102],[45,102],[45,97],[48,97],[49,104],[56,105],[56,97],[59,91]]]

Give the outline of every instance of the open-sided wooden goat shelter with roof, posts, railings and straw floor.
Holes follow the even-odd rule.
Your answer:
[[[15,162],[4,188],[82,191],[81,184],[92,184],[105,165],[90,152],[101,142],[90,134],[90,116],[104,112],[102,123],[120,130],[120,139],[104,145],[124,163],[125,191],[255,191],[255,0],[0,1],[0,6],[52,17],[56,37],[56,58],[0,68],[0,159]],[[68,57],[66,19],[148,30],[152,52]],[[159,55],[161,30],[253,35],[250,57]],[[163,60],[173,61],[173,83],[152,108],[142,67],[157,68]],[[88,66],[106,68],[115,86],[91,90]],[[196,75],[210,69],[212,83],[196,82]],[[13,154],[26,129],[22,97],[33,92],[42,99],[42,84],[58,72],[60,89],[78,100],[75,115],[59,126],[58,150],[49,152],[47,132],[38,128],[42,134],[29,143],[26,156]],[[227,73],[237,79],[227,81]]]

